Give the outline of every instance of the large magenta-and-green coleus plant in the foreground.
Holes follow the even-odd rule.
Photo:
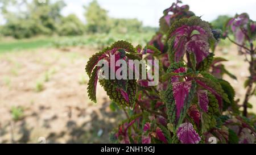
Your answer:
[[[222,79],[224,67],[216,65],[226,61],[214,58],[220,31],[212,30],[180,3],[164,11],[159,32],[146,47],[117,41],[86,65],[89,98],[96,102],[99,81],[112,105],[122,107],[127,116],[113,130],[112,142],[198,144],[215,139],[217,143],[254,143],[254,120],[241,115],[233,87]],[[148,85],[148,74],[146,79],[98,80],[102,68],[98,62],[109,64],[112,56],[115,61],[124,60],[139,75],[141,70],[129,60],[160,60],[158,85]],[[110,64],[109,68],[117,72],[121,66]]]

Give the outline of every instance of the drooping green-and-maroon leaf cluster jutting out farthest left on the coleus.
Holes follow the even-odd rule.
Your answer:
[[[88,96],[94,102],[96,102],[96,87],[97,87],[97,79],[98,79],[98,70],[100,70],[101,66],[97,66],[98,61],[105,60],[110,64],[111,58],[114,56],[114,61],[124,60],[126,65],[129,66],[128,60],[141,60],[141,55],[136,52],[133,45],[128,43],[127,41],[117,41],[111,45],[111,47],[106,47],[101,52],[93,55],[87,65],[86,72],[89,75],[89,83],[88,83]],[[105,64],[104,64],[105,65]],[[112,65],[110,64],[110,72],[112,69]],[[121,66],[114,66],[114,71],[116,72]],[[134,69],[134,68],[131,68]],[[92,72],[93,70],[93,72]],[[135,70],[135,73],[136,70]],[[139,74],[139,73],[137,73]],[[104,75],[106,77],[110,75]],[[115,103],[122,104],[126,106],[132,106],[135,101],[135,90],[136,83],[134,80],[127,79],[101,79],[100,84],[104,87],[105,91],[109,95],[110,99],[113,99]]]

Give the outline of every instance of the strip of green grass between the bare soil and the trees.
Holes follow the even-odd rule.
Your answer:
[[[79,47],[89,46],[93,48],[102,49],[111,45],[118,40],[130,41],[134,44],[146,45],[152,38],[154,32],[147,33],[109,33],[109,34],[94,34],[84,36],[61,36],[61,37],[34,37],[30,39],[10,40],[0,42],[0,53],[12,51],[24,51],[30,49],[37,49],[43,47],[53,48],[66,48],[66,47]]]

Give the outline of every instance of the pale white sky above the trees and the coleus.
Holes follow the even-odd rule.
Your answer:
[[[40,1],[40,0],[39,0]],[[47,0],[46,0],[47,1]],[[53,0],[57,1],[57,0]],[[92,0],[64,0],[67,6],[61,14],[76,14],[83,22],[83,5]],[[159,18],[163,10],[171,6],[176,0],[97,0],[101,7],[108,10],[113,18],[137,18],[144,26],[158,27]],[[212,21],[218,15],[241,14],[247,12],[250,18],[256,20],[256,0],[183,0],[183,4],[190,6],[191,11],[203,20]],[[0,23],[3,21],[0,15]]]

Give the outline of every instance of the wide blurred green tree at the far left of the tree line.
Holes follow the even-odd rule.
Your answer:
[[[65,6],[63,1],[39,3],[34,0],[28,3],[23,1],[0,1],[1,12],[6,19],[1,33],[15,38],[31,37],[35,35],[52,35],[61,22],[60,11]],[[15,7],[15,11],[8,7]],[[24,7],[26,11],[19,10]]]

